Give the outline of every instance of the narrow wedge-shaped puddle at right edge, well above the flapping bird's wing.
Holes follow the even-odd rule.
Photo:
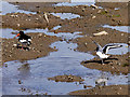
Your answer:
[[[129,26],[109,26],[109,25],[104,25],[103,26],[104,28],[112,28],[112,29],[116,29],[116,30],[119,30],[119,31],[123,31],[123,32],[129,32]]]

